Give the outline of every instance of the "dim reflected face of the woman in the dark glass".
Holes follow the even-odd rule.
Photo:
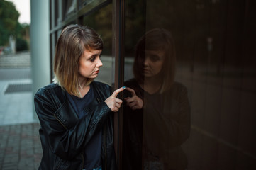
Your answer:
[[[164,64],[165,53],[160,51],[145,50],[143,74],[145,77],[154,77],[159,74]]]

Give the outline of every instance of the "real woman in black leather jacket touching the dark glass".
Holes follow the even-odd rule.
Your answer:
[[[39,169],[116,169],[113,112],[125,88],[94,81],[102,62],[101,37],[91,28],[70,25],[55,47],[55,83],[35,94],[43,158]]]

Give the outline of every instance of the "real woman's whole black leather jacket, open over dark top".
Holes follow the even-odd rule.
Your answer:
[[[95,108],[84,108],[90,118],[81,118],[67,100],[65,91],[50,84],[35,94],[35,111],[40,120],[43,158],[39,169],[77,170],[84,166],[84,147],[97,130],[102,130],[102,169],[116,169],[113,147],[113,113],[104,100],[111,96],[111,87],[93,81]],[[95,105],[94,105],[95,106]]]

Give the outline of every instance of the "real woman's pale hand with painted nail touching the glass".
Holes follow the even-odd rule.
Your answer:
[[[124,89],[126,89],[126,87],[124,86],[119,89],[116,89],[116,91],[114,91],[110,97],[106,98],[105,103],[108,106],[108,108],[111,108],[111,111],[117,112],[121,107],[123,101],[119,98],[116,98],[116,96]]]

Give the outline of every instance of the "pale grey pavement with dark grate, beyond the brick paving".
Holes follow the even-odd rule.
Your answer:
[[[0,69],[0,125],[35,123],[30,69]]]

